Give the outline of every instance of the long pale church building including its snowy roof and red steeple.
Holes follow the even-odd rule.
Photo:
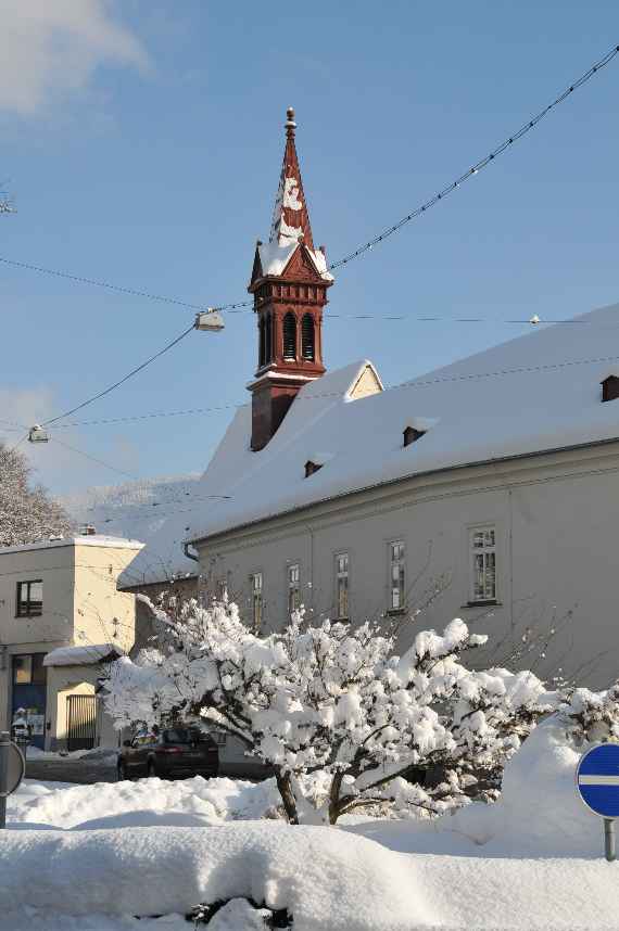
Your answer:
[[[333,280],[313,243],[294,131],[289,112],[250,283],[251,403],[191,513],[169,518],[127,579],[161,581],[174,537],[185,545],[165,572],[228,591],[262,630],[303,604],[314,620],[376,620],[405,645],[460,616],[490,635],[478,662],[614,681],[619,305],[388,390],[368,360],[326,372]]]

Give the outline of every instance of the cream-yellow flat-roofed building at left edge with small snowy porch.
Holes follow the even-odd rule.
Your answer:
[[[0,549],[1,729],[41,750],[113,741],[97,687],[135,641],[135,596],[116,582],[141,548],[86,534]]]

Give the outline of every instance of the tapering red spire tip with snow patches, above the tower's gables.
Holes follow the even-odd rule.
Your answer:
[[[294,144],[296,123],[294,122],[294,110],[291,106],[286,111],[286,149],[279,189],[275,199],[269,242],[277,242],[280,246],[287,246],[292,245],[298,242],[300,237],[303,237],[305,245],[313,250],[310,214],[307,213]]]

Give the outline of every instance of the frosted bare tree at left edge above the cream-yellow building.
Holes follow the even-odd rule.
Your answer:
[[[28,460],[0,441],[0,546],[17,546],[72,530],[68,515],[30,482]]]

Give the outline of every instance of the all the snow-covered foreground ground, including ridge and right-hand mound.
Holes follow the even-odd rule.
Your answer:
[[[274,819],[273,782],[25,783],[0,847],[0,928],[178,931],[198,903],[248,896],[288,908],[294,931],[618,931],[619,864],[576,795],[578,757],[551,720],[496,804],[337,828]],[[209,927],[261,921],[239,901]]]

